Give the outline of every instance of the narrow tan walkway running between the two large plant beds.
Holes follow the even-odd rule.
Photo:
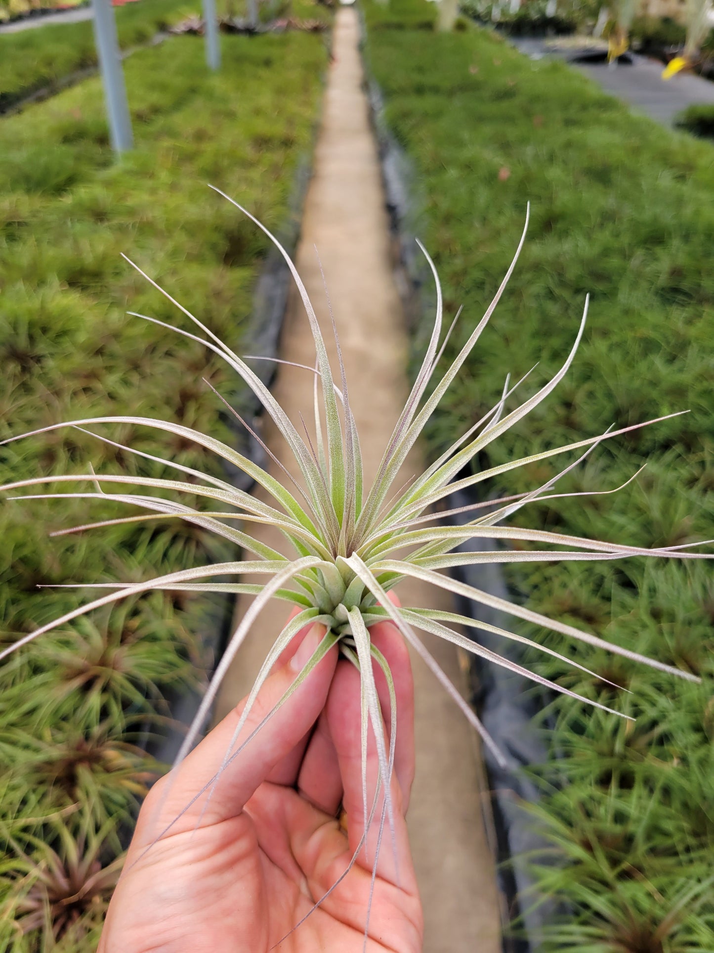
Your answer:
[[[394,422],[407,395],[407,332],[391,270],[387,213],[376,145],[362,91],[355,10],[337,13],[332,64],[322,128],[303,218],[297,266],[321,319],[329,315],[314,245],[322,257],[337,322],[353,405],[365,456],[367,482],[374,476]],[[330,335],[326,335],[329,340]],[[292,294],[281,356],[312,365],[314,349],[307,317]],[[300,426],[298,410],[310,411],[312,375],[281,366],[274,393]],[[266,428],[268,445],[284,456],[285,443]],[[289,464],[288,464],[289,465]],[[407,462],[406,476],[419,459]],[[279,476],[275,473],[275,476]],[[397,480],[401,485],[402,479]],[[263,537],[280,546],[280,537]],[[437,593],[422,585],[400,587],[403,600],[437,606]],[[240,599],[238,618],[248,600]],[[442,603],[443,604],[443,603]],[[273,602],[238,653],[217,705],[217,717],[248,694],[269,644],[285,620]],[[451,646],[430,648],[447,673],[462,683]],[[477,739],[444,690],[414,660],[416,682],[417,776],[409,827],[426,913],[425,953],[496,953],[500,949],[499,905],[493,863],[486,843]]]

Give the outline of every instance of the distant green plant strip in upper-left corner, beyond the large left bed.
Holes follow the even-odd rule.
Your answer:
[[[147,43],[159,30],[166,30],[199,6],[190,0],[140,0],[115,8],[119,46],[127,50]],[[0,111],[96,63],[89,20],[0,33]]]

